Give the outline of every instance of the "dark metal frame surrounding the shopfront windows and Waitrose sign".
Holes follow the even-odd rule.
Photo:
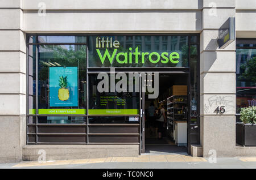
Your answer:
[[[103,71],[108,72],[110,67],[89,67],[89,52],[88,52],[88,46],[89,46],[89,36],[188,36],[188,67],[135,67],[136,71],[141,72],[142,70],[144,71],[159,71],[159,72],[186,72],[186,73],[191,73],[190,69],[190,61],[189,61],[189,55],[190,55],[190,47],[191,45],[196,45],[197,46],[197,92],[196,92],[196,96],[197,96],[197,122],[198,122],[198,126],[200,129],[200,34],[198,33],[175,33],[175,34],[170,34],[170,33],[92,33],[92,34],[86,34],[86,33],[66,33],[66,34],[62,34],[62,33],[29,33],[27,34],[27,52],[28,52],[28,46],[29,45],[36,45],[36,98],[38,99],[38,45],[44,45],[45,43],[38,43],[38,38],[36,38],[36,42],[28,42],[28,37],[29,36],[86,36],[86,43],[49,43],[48,45],[86,45],[86,82],[89,82],[88,78],[89,78],[89,74],[94,74]],[[190,42],[191,36],[196,36],[197,37],[197,42]],[[27,66],[28,66],[28,53],[27,53]],[[134,67],[115,67],[116,68],[116,72],[121,71],[121,72],[134,72]],[[27,75],[28,75],[28,68],[27,68]],[[27,83],[28,83],[28,76],[27,76]],[[190,86],[190,78],[189,78],[189,84],[188,86]],[[30,143],[28,142],[28,122],[27,122],[27,144],[140,144],[140,142],[138,143],[126,143],[126,142],[122,142],[122,143],[90,143],[89,142],[89,126],[123,126],[124,128],[126,126],[134,126],[134,127],[139,127],[141,128],[140,124],[111,124],[111,123],[100,123],[100,124],[89,124],[89,116],[93,116],[93,115],[88,115],[88,108],[89,108],[89,98],[88,98],[88,85],[86,86],[87,88],[87,95],[86,95],[86,114],[81,114],[81,115],[76,115],[76,114],[69,114],[69,115],[50,115],[50,116],[84,116],[86,117],[86,124],[77,124],[76,126],[84,126],[86,128],[86,142],[85,143],[42,143],[42,142],[38,142],[38,126],[42,126],[40,124],[38,124],[38,117],[39,116],[49,116],[49,114],[43,115],[43,114],[38,114],[38,112],[36,112],[36,114],[28,114],[28,94],[27,94],[27,105],[26,105],[26,117],[28,119],[28,117],[36,117],[36,122],[35,122],[35,128],[36,128],[36,132],[35,132],[35,143]],[[27,84],[27,92],[28,92],[28,84]],[[190,98],[190,96],[189,96]],[[36,101],[36,111],[38,111],[38,100]],[[100,114],[98,114],[100,115]],[[102,116],[109,116],[109,115],[102,115]],[[114,115],[111,115],[114,116]],[[122,115],[118,115],[118,116],[122,116]],[[126,115],[126,116],[130,116],[130,115]],[[57,124],[60,126],[71,126],[72,124]],[[54,126],[54,125],[53,125]],[[104,134],[104,135],[108,135],[108,133]],[[122,135],[122,134],[116,134],[116,135]],[[133,135],[138,135],[138,134],[130,134],[131,136]],[[141,135],[141,132],[139,132],[139,135]],[[200,130],[199,130],[199,137],[198,137],[198,142],[200,143]]]

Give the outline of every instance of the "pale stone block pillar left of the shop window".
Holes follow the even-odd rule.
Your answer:
[[[26,144],[26,35],[21,3],[0,2],[0,163],[21,161]]]

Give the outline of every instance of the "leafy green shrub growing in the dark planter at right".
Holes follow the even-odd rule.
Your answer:
[[[240,119],[245,124],[256,123],[256,106],[249,106],[249,108],[242,108],[240,112]]]

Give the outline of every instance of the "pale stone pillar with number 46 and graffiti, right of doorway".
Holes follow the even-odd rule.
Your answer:
[[[234,156],[236,147],[236,42],[218,49],[218,29],[236,16],[236,0],[203,0],[200,37],[201,145],[203,156]],[[225,106],[224,114],[214,113]],[[212,152],[210,150],[213,149]],[[209,154],[210,153],[210,154]]]

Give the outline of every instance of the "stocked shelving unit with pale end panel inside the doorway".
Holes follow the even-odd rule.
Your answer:
[[[170,96],[167,98],[167,130],[168,135],[178,145],[187,143],[187,96]],[[185,132],[180,132],[181,131]],[[181,137],[182,136],[182,137]]]

